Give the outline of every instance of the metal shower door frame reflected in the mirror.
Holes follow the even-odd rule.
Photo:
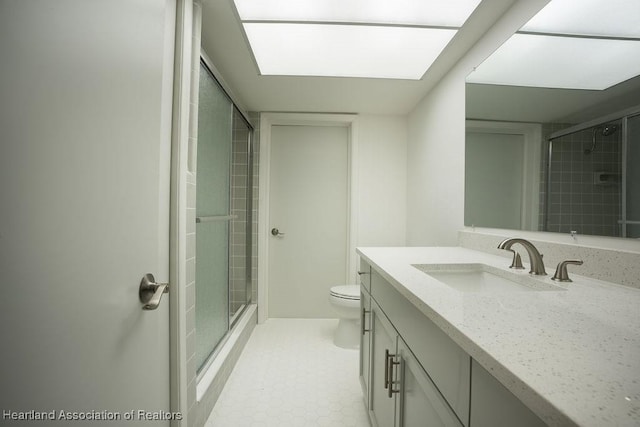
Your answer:
[[[546,170],[547,185],[546,185],[545,204],[544,204],[545,212],[544,212],[544,230],[543,231],[547,230],[547,224],[548,224],[547,221],[549,219],[549,200],[551,196],[551,160],[553,158],[553,140],[562,138],[563,136],[571,135],[573,133],[580,132],[586,129],[590,129],[596,126],[600,126],[605,123],[620,121],[622,124],[621,126],[622,177],[621,177],[621,185],[620,185],[620,201],[621,201],[620,220],[618,222],[621,226],[621,229],[620,229],[621,235],[613,236],[613,237],[627,238],[627,202],[626,201],[627,201],[628,119],[629,117],[634,117],[638,115],[640,115],[640,105],[636,105],[634,107],[630,107],[614,113],[606,114],[604,116],[600,116],[595,119],[588,120],[583,123],[579,123],[575,126],[571,126],[571,127],[553,132],[551,135],[549,135],[549,137],[547,138],[549,159],[547,161],[547,170]]]

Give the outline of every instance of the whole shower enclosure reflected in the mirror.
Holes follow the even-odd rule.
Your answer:
[[[640,108],[552,133],[543,230],[640,237],[638,164]]]

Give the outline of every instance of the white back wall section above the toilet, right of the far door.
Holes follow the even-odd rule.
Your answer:
[[[405,246],[407,119],[358,117],[358,246]]]

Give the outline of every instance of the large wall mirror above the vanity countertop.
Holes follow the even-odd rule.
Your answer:
[[[512,39],[522,34],[530,32]],[[640,47],[640,37],[620,39]],[[552,68],[562,74],[560,67]],[[589,67],[576,77],[581,84],[607,74],[600,61]],[[471,73],[465,225],[640,237],[640,69],[629,67],[635,77],[604,90],[476,83]],[[522,72],[498,68],[513,81],[520,76],[509,73]]]

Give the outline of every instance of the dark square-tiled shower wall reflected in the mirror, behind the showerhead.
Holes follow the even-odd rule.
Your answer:
[[[557,138],[553,142],[551,160],[551,194],[548,218],[544,221],[549,162],[548,136],[567,124],[543,125],[543,167],[541,170],[541,230],[600,236],[619,236],[621,140],[620,133],[596,136],[591,154],[585,149],[593,143],[593,128]],[[612,177],[608,183],[598,183],[597,174]]]

